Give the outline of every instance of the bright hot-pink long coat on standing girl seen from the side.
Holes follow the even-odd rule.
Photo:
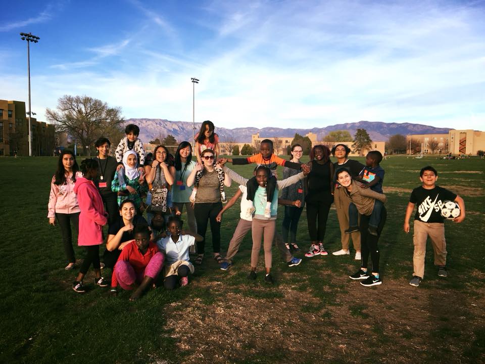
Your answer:
[[[77,244],[103,244],[102,226],[108,222],[101,195],[91,180],[76,178],[74,193],[77,194],[81,213],[79,214],[79,237]]]

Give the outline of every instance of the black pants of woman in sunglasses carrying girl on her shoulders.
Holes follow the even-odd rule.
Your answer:
[[[216,217],[222,210],[222,202],[202,202],[196,203],[193,213],[196,215],[197,234],[204,240],[197,243],[197,254],[204,254],[206,248],[207,222],[211,223],[212,250],[214,253],[221,251],[221,223],[217,222]]]

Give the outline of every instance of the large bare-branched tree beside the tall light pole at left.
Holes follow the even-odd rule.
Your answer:
[[[64,95],[58,100],[57,110],[45,110],[47,121],[56,125],[59,132],[67,132],[84,149],[84,155],[94,151],[94,142],[106,136],[117,145],[121,131],[121,108],[88,96]]]

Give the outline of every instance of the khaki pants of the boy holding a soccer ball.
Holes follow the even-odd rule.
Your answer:
[[[424,277],[424,257],[426,255],[426,240],[431,239],[434,250],[434,265],[446,265],[445,224],[441,222],[422,222],[414,220],[414,255],[413,276]]]

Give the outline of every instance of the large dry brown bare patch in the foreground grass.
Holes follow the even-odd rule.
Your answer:
[[[311,290],[302,292],[296,285],[261,283],[253,289],[277,291],[282,297],[226,293],[210,305],[198,299],[174,302],[166,308],[171,317],[167,328],[173,330],[178,350],[187,354],[186,363],[413,363],[439,361],[444,352],[447,361],[467,362],[466,350],[480,340],[475,333],[485,323],[480,308],[485,290],[474,293],[470,303],[465,294],[443,289],[441,282],[425,282],[426,287],[415,288],[404,279],[384,280],[365,288],[340,277],[332,286],[344,285],[345,290],[331,305],[322,305]],[[219,290],[206,283],[211,291]],[[485,358],[483,352],[475,354]]]

